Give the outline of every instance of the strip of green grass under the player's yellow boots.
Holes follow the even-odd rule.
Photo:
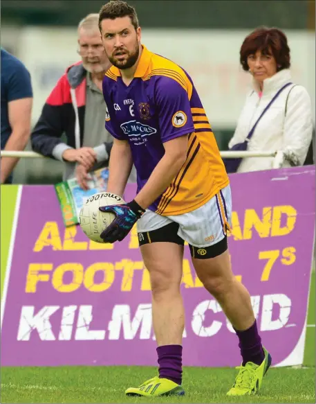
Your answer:
[[[1,403],[315,403],[315,368],[270,369],[258,396],[230,398],[235,369],[185,368],[185,397],[126,397],[156,374],[151,367],[6,368]]]

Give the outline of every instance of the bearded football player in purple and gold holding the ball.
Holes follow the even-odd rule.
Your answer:
[[[115,138],[108,191],[123,195],[132,164],[138,176],[134,200],[100,207],[116,216],[101,236],[106,243],[115,243],[137,222],[140,251],[150,274],[158,344],[159,377],[130,387],[126,394],[184,394],[185,315],[180,295],[184,240],[198,278],[219,301],[239,337],[243,362],[228,394],[254,394],[271,358],[261,345],[248,290],[230,267],[230,183],[201,100],[183,69],[141,44],[133,7],[124,1],[106,3],[99,26],[113,64],[103,80],[105,126]]]

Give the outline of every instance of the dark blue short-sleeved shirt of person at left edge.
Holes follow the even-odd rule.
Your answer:
[[[12,132],[8,103],[32,96],[30,73],[19,59],[1,48],[1,150]]]

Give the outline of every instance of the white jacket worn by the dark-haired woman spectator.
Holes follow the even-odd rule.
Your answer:
[[[284,69],[263,82],[263,93],[259,98],[259,85],[252,80],[253,91],[248,94],[239,116],[229,148],[241,143],[248,136],[263,109],[287,82],[292,82],[290,71]],[[294,87],[295,86],[295,87]],[[287,105],[286,105],[287,104]],[[290,85],[284,89],[259,121],[248,142],[251,151],[284,151],[280,167],[304,164],[312,141],[313,121],[310,96],[301,85]],[[279,160],[280,158],[277,157]],[[274,157],[248,157],[242,159],[238,173],[269,170]]]

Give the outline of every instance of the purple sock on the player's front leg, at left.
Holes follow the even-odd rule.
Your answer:
[[[182,383],[182,346],[162,345],[157,348],[159,377]]]

